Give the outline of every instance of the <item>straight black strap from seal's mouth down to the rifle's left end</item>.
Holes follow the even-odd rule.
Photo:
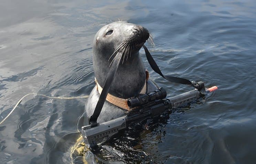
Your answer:
[[[108,91],[110,89],[110,86],[111,86],[111,84],[112,84],[112,82],[115,78],[116,71],[117,71],[117,68],[119,66],[121,57],[122,57],[122,54],[120,52],[118,52],[117,55],[115,56],[112,64],[111,64],[111,67],[110,67],[110,70],[108,72],[107,78],[106,78],[105,83],[103,85],[102,93],[99,96],[99,100],[98,100],[97,105],[95,107],[94,113],[90,117],[91,127],[94,127],[94,126],[98,125],[97,119],[99,117],[99,114],[100,114],[100,112],[102,110],[102,107],[104,105],[104,102],[106,100],[106,97],[107,97]]]

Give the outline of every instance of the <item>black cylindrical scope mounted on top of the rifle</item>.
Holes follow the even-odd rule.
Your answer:
[[[133,108],[133,107],[147,104],[148,102],[151,102],[157,99],[163,99],[163,98],[166,98],[166,90],[164,90],[163,87],[160,87],[154,92],[147,93],[147,94],[139,94],[136,97],[128,98],[127,105],[130,108]]]

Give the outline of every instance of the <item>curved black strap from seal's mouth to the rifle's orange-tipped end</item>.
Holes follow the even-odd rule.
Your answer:
[[[149,53],[147,47],[145,45],[143,45],[143,48],[145,50],[146,57],[148,59],[148,62],[149,62],[149,65],[151,66],[151,68],[155,72],[160,74],[164,79],[166,79],[166,80],[168,80],[170,82],[179,83],[179,84],[186,84],[186,85],[192,85],[193,84],[191,81],[189,81],[187,79],[163,75],[162,72],[160,71],[159,67],[157,66],[157,63],[154,61],[154,59],[152,58],[151,54]]]

